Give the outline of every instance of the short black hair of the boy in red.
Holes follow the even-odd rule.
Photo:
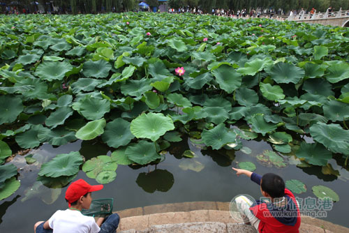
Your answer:
[[[262,190],[268,193],[270,197],[283,197],[285,195],[285,182],[274,173],[266,173],[262,176]]]

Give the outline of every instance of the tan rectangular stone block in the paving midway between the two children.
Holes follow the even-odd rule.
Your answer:
[[[170,212],[170,213],[154,213],[149,215],[149,226],[189,223],[191,215],[189,212]]]

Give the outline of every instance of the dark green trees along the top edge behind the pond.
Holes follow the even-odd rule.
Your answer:
[[[157,0],[144,0],[149,6],[158,6],[159,2]],[[11,0],[2,1],[5,3],[13,2]],[[34,5],[31,4],[31,0],[22,0],[21,6],[30,6],[33,8]],[[38,0],[42,6],[45,7],[45,11],[50,9],[50,2],[53,6],[61,7],[62,10],[71,11],[73,13],[98,13],[102,11],[111,12],[113,9],[116,12],[121,12],[124,10],[135,10],[140,1],[138,0]],[[349,8],[349,1],[347,0],[269,0],[269,1],[256,1],[256,0],[169,0],[169,5],[172,8],[186,7],[191,8],[202,8],[206,13],[211,13],[212,8],[224,8],[235,10],[242,10],[246,8],[250,9],[269,9],[274,8],[276,12],[281,8],[285,13],[288,10],[300,10],[301,8],[311,10],[315,8],[320,12],[325,12],[329,6],[332,6],[334,10],[339,10],[342,8],[346,10]]]

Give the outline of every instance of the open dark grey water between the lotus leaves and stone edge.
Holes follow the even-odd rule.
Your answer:
[[[119,165],[117,178],[107,183],[103,190],[93,193],[93,198],[113,197],[114,211],[176,202],[230,202],[239,194],[249,194],[258,199],[260,188],[246,176],[237,177],[231,169],[237,167],[238,163],[251,161],[257,166],[255,172],[259,174],[274,172],[285,180],[299,179],[305,183],[307,192],[297,197],[315,197],[311,192],[311,187],[315,185],[332,188],[341,200],[334,203],[333,209],[327,211],[327,217],[322,219],[348,227],[349,202],[346,202],[346,196],[349,193],[349,172],[337,165],[343,164],[343,160],[329,160],[334,170],[339,170],[340,176],[322,174],[321,167],[299,168],[295,165],[297,160],[288,156],[284,156],[287,167],[266,167],[258,163],[255,157],[266,149],[272,150],[272,146],[263,140],[242,140],[242,143],[251,149],[251,153],[201,149],[202,145],[186,137],[181,142],[173,143],[165,154],[165,160],[158,165]],[[193,151],[195,158],[182,157],[186,150]],[[97,141],[77,141],[57,148],[44,144],[31,153],[43,163],[59,153],[70,151],[80,151],[86,159],[111,153],[105,144],[98,144]],[[0,232],[32,232],[36,221],[47,220],[57,209],[67,208],[64,200],[67,187],[50,189],[40,186],[40,183],[34,185],[40,165],[27,165],[24,156],[16,156],[11,163],[20,168],[18,179],[21,186],[15,194],[0,202]],[[89,179],[81,170],[76,179],[80,178],[96,184],[96,180]]]

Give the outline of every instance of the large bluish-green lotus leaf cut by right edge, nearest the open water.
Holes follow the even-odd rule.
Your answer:
[[[320,142],[334,153],[349,155],[349,130],[338,124],[315,123],[309,128],[313,140]]]

